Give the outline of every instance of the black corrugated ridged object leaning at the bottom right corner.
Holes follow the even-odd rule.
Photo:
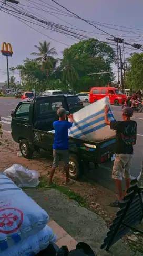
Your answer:
[[[132,184],[134,185],[127,191],[128,195],[124,197],[123,202],[119,203],[120,210],[117,212],[117,217],[109,228],[101,249],[105,248],[108,251],[113,244],[130,230],[143,234],[143,232],[135,228],[143,218],[142,190],[138,188],[137,180],[134,180]]]

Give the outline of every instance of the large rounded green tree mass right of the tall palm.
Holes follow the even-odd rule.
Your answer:
[[[71,45],[63,52],[61,67],[63,78],[73,90],[88,91],[91,86],[106,86],[114,80],[114,74],[91,75],[93,72],[111,71],[116,61],[114,50],[97,39],[89,39]]]

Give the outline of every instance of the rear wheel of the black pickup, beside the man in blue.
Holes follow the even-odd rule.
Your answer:
[[[69,177],[77,180],[81,176],[80,163],[78,157],[75,154],[69,155]]]

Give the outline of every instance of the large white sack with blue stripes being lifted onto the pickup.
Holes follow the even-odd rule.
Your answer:
[[[74,124],[68,130],[69,136],[89,141],[101,141],[114,137],[116,131],[111,130],[104,123],[105,105],[110,107],[110,111],[108,112],[109,120],[114,120],[109,97],[107,96],[74,113]]]

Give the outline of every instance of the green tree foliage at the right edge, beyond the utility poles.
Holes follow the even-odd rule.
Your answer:
[[[131,54],[127,58],[128,66],[125,76],[126,88],[132,90],[143,89],[143,52]]]

